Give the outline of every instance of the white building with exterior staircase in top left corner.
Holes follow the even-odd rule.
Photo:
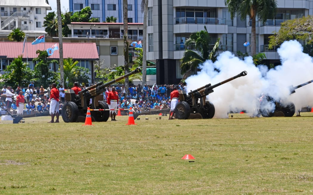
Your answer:
[[[3,0],[0,5],[0,30],[44,31],[44,17],[51,7],[46,0]]]

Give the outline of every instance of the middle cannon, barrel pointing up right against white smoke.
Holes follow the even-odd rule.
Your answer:
[[[215,114],[215,107],[210,101],[206,101],[206,96],[213,93],[213,89],[241,76],[246,76],[247,71],[226,79],[215,85],[207,84],[196,90],[190,91],[188,95],[184,90],[178,90],[179,103],[175,107],[176,119],[202,118],[211,119]]]

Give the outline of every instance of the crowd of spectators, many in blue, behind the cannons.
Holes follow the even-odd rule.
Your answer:
[[[128,94],[126,94],[124,85],[117,85],[115,89],[119,95],[118,108],[129,109],[132,107],[135,113],[150,111],[150,109],[170,108],[170,94],[173,91],[173,87],[174,85],[129,85]],[[80,86],[80,88],[85,89],[85,86]],[[177,89],[186,90],[186,86],[179,83]],[[25,97],[23,115],[49,112],[51,85],[45,89],[44,86],[34,86],[33,82],[31,82],[27,88],[22,86],[18,86],[15,90],[10,88],[10,91],[12,91],[15,96],[12,98],[12,105],[10,105],[9,109],[7,108],[6,90],[7,86],[3,86],[0,99],[0,115],[7,115],[7,111],[5,111],[6,109],[11,114],[17,113],[16,95],[18,95],[19,91],[22,91],[23,96]],[[59,110],[61,111],[63,104],[65,103],[64,87],[61,85],[58,87],[58,90],[60,93]],[[107,87],[106,91],[103,93],[104,101],[106,101],[110,90],[111,86]]]

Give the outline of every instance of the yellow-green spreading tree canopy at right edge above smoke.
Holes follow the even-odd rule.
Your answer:
[[[282,42],[296,39],[312,43],[313,16],[296,18],[281,23],[280,30],[269,36],[269,48],[280,45]]]

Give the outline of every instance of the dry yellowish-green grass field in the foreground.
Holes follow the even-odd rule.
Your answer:
[[[0,194],[313,194],[313,113],[301,115],[0,121]]]

